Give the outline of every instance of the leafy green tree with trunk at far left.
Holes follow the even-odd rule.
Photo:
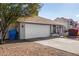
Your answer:
[[[5,3],[0,4],[0,18],[1,18],[1,31],[2,40],[5,42],[5,36],[8,31],[8,27],[11,23],[16,23],[16,20],[20,16],[36,16],[41,7],[41,4],[37,3]]]

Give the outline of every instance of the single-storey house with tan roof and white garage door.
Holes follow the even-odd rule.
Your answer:
[[[56,21],[43,17],[20,17],[19,23],[20,39],[50,37],[54,34],[63,35],[64,26]]]

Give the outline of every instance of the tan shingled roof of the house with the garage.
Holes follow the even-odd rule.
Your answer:
[[[25,22],[25,23],[37,23],[37,24],[54,24],[54,25],[62,25],[59,22],[50,20],[50,19],[46,19],[43,17],[39,17],[39,16],[34,16],[34,17],[20,17],[17,19],[18,22]]]

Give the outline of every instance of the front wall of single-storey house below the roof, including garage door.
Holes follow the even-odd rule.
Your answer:
[[[51,29],[51,31],[50,31]],[[56,32],[54,33],[53,25],[42,25],[42,24],[27,24],[20,23],[20,39],[31,39],[39,37],[59,36],[64,34],[64,27],[56,25]]]

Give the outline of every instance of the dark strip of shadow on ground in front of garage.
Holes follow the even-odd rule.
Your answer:
[[[41,41],[41,40],[49,40],[49,39],[53,39],[53,38],[54,37],[34,38],[34,39],[16,39],[16,40],[9,40],[9,39],[7,39],[5,44],[23,43],[23,42],[34,42],[34,41]]]

